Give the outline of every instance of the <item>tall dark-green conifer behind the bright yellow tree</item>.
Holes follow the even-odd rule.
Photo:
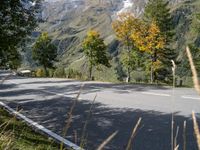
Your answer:
[[[144,12],[144,20],[148,23],[155,22],[166,40],[164,47],[160,49],[159,60],[162,62],[163,67],[157,70],[158,80],[171,79],[171,60],[174,60],[177,56],[175,50],[171,48],[174,28],[169,8],[168,1],[149,0]]]

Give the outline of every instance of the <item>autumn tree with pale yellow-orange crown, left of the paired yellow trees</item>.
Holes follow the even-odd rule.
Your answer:
[[[122,42],[125,50],[122,53],[123,58],[121,59],[122,64],[127,70],[127,82],[130,81],[130,73],[134,69],[134,58],[132,57],[132,52],[134,50],[134,43],[131,38],[134,30],[138,27],[139,19],[135,18],[132,13],[121,13],[118,15],[117,19],[113,21],[112,28],[119,41]],[[123,62],[125,60],[125,62]]]

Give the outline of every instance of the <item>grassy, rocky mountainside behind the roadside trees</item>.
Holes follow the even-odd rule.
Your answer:
[[[104,74],[114,76],[113,80],[117,80],[123,76],[118,59],[122,47],[116,40],[111,23],[118,13],[127,10],[140,17],[146,3],[147,0],[47,0],[43,5],[43,21],[38,32],[49,32],[58,46],[58,66],[86,70],[81,42],[89,29],[96,29],[108,45],[112,58],[113,67],[104,71]],[[170,5],[176,28],[173,47],[181,52],[188,42],[200,44],[196,35],[191,33],[193,15],[200,11],[199,0],[170,0]]]

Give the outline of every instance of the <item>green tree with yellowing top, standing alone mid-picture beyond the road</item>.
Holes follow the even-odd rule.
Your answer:
[[[104,65],[110,67],[109,58],[106,54],[106,45],[99,32],[91,30],[83,41],[83,50],[89,62],[89,78],[92,79],[93,67]]]

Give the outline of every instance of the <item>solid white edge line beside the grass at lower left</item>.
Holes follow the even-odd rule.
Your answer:
[[[15,114],[19,118],[23,119],[25,122],[30,124],[31,126],[35,127],[36,129],[46,133],[50,137],[53,137],[54,139],[58,140],[59,142],[63,142],[67,147],[72,148],[73,150],[84,150],[77,146],[76,144],[66,140],[65,138],[61,137],[60,135],[50,131],[49,129],[45,128],[42,125],[39,125],[37,122],[34,122],[33,120],[27,118],[26,116],[22,115],[21,113],[15,111],[14,109],[10,108],[8,105],[6,105],[3,102],[0,102],[0,105],[6,108],[8,111],[10,111],[12,114]]]

